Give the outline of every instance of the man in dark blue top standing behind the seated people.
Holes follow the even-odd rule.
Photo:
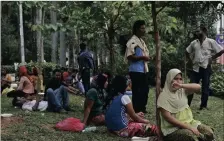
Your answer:
[[[80,49],[78,56],[79,72],[86,93],[90,89],[90,70],[94,69],[94,60],[92,54],[87,51],[85,43],[80,44]]]

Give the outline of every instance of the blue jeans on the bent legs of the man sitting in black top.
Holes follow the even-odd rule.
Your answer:
[[[69,97],[68,92],[64,86],[60,86],[58,89],[47,89],[48,97],[48,110],[59,111],[62,108],[68,107]]]

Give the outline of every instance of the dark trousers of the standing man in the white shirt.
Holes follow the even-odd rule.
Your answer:
[[[191,73],[191,83],[199,83],[202,79],[202,95],[200,107],[207,107],[211,72],[211,66],[209,65],[206,69],[200,67],[199,72],[192,71]],[[189,106],[191,105],[193,96],[193,94],[188,96]]]

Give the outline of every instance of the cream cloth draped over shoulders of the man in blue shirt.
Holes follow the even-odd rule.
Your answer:
[[[125,61],[127,61],[128,56],[135,54],[136,47],[140,47],[142,49],[143,56],[149,57],[149,51],[145,42],[141,38],[138,38],[136,35],[133,35],[131,37],[131,39],[127,42],[126,46],[127,48],[125,52]],[[145,63],[145,72],[148,72],[149,71],[148,63],[147,61],[145,61],[144,63]]]

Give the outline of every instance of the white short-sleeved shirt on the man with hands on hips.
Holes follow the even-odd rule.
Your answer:
[[[202,44],[198,39],[191,42],[186,51],[190,53],[193,70],[199,72],[199,68],[206,69],[209,64],[209,58],[222,51],[222,49],[215,40],[206,37]]]

